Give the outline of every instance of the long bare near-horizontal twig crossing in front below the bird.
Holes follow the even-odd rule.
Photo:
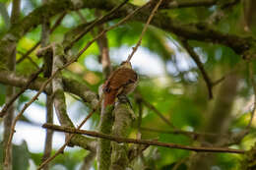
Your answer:
[[[158,145],[158,146],[163,146],[168,148],[179,148],[179,149],[186,149],[186,150],[192,150],[192,151],[198,151],[198,152],[200,151],[201,152],[225,152],[225,153],[239,153],[239,154],[243,154],[245,152],[245,150],[242,150],[242,149],[233,149],[233,148],[225,148],[225,147],[190,146],[190,145],[182,145],[182,144],[171,143],[171,142],[157,142],[157,141],[149,141],[149,140],[120,138],[112,135],[97,133],[95,131],[78,130],[75,128],[62,127],[62,126],[57,126],[52,124],[43,124],[42,127],[59,131],[59,132],[65,132],[65,133],[71,133],[71,134],[83,134],[90,137],[110,140],[113,142]]]

